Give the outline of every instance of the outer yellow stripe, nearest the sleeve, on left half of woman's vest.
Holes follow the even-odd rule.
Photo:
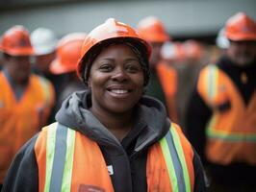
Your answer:
[[[47,143],[46,143],[46,173],[44,191],[48,192],[50,189],[50,182],[52,176],[52,165],[55,153],[57,123],[51,124],[47,129]]]

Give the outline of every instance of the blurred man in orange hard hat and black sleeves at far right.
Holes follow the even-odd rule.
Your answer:
[[[230,45],[200,72],[188,135],[212,177],[212,191],[256,191],[256,23],[245,13],[225,25]]]

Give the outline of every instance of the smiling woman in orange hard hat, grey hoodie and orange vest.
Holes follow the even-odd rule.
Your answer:
[[[144,97],[149,45],[115,19],[87,36],[77,66],[89,89],[13,161],[5,191],[204,191],[198,156],[164,106]]]

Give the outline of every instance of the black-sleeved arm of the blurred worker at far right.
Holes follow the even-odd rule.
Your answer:
[[[203,162],[205,129],[211,115],[212,110],[208,108],[196,88],[194,88],[186,114],[186,131],[188,139]]]

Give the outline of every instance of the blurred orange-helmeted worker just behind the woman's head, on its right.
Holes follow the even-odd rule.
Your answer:
[[[138,32],[152,46],[149,60],[151,80],[146,95],[159,99],[166,105],[169,118],[177,122],[176,89],[177,75],[174,68],[161,58],[161,48],[169,40],[164,24],[154,16],[148,16],[138,23]]]

